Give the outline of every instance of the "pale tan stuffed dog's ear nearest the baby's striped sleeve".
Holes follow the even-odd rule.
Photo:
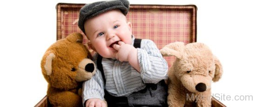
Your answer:
[[[163,47],[160,52],[163,56],[175,56],[181,59],[184,48],[185,45],[183,42],[174,42]]]

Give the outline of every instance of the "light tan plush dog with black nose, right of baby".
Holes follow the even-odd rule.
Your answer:
[[[202,43],[174,42],[161,50],[163,56],[175,56],[168,71],[169,107],[211,107],[211,83],[223,73],[220,61]]]

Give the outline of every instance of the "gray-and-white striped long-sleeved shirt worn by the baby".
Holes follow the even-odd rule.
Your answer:
[[[132,45],[134,36],[132,36]],[[137,48],[141,73],[137,72],[128,62],[121,62],[114,58],[102,58],[106,86],[101,71],[97,69],[95,75],[83,83],[83,104],[90,98],[104,98],[104,88],[113,96],[128,96],[146,87],[145,83],[158,83],[166,80],[168,64],[152,40],[141,40],[141,48]],[[98,54],[94,55],[97,63]]]

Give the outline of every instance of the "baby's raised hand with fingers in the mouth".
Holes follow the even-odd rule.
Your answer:
[[[119,41],[118,44],[113,46],[118,52],[115,58],[119,61],[129,61],[133,55],[137,55],[137,49],[129,44]]]

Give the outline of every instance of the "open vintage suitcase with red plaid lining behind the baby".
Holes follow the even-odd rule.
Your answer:
[[[65,38],[69,33],[82,31],[77,26],[79,10],[84,4],[59,3],[57,10],[57,38]],[[195,5],[130,5],[127,19],[132,23],[136,38],[150,39],[161,49],[165,45],[182,41],[185,44],[196,42],[196,6]],[[83,33],[82,33],[83,34]],[[84,35],[83,44],[87,45]],[[92,54],[94,52],[90,50]],[[165,57],[168,67],[174,57]],[[35,107],[50,107],[45,96]],[[225,107],[212,99],[212,107]]]

